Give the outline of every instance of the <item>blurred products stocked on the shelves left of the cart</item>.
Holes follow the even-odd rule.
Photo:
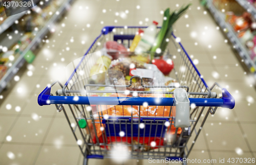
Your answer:
[[[27,13],[20,18],[16,26],[18,27],[19,32],[23,32],[20,33],[22,37],[17,41],[17,43],[13,43],[12,46],[8,47],[7,52],[0,51],[0,65],[7,67],[7,69],[10,68],[62,3],[63,0],[47,1],[44,5],[38,5],[32,8],[29,14]],[[3,7],[0,8],[0,24],[6,19],[3,9]],[[26,57],[24,58],[28,63],[31,63],[35,56],[34,53],[29,50],[26,52]],[[1,74],[5,73],[6,72],[1,72]],[[3,76],[0,76],[0,79],[2,77]]]

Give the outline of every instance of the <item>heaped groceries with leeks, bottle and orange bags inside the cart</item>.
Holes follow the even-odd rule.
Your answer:
[[[89,84],[92,84],[92,86],[88,85],[87,87],[87,90],[93,89],[102,91],[102,93],[95,93],[89,96],[106,96],[113,97],[113,99],[127,97],[155,97],[156,100],[164,97],[175,98],[175,95],[161,93],[174,92],[176,89],[166,88],[166,86],[180,86],[175,77],[169,76],[174,69],[174,63],[171,60],[174,54],[165,52],[165,48],[172,34],[173,23],[187,8],[188,6],[171,14],[169,14],[169,9],[166,9],[163,26],[158,35],[158,23],[153,21],[148,28],[144,30],[138,29],[130,48],[129,45],[125,45],[122,42],[106,41],[100,51],[101,56],[90,70],[91,78],[89,78]],[[97,85],[99,86],[97,87]],[[159,86],[159,88],[151,88],[153,86]],[[188,111],[186,112],[186,117],[188,117],[186,122],[188,124],[186,123],[185,126],[187,127],[189,125],[189,100],[187,97],[185,99],[188,101]],[[172,121],[161,119],[161,117],[172,118],[173,115],[177,114],[177,119],[184,118],[184,113],[179,116],[179,113],[176,112],[176,106],[150,106],[146,102],[145,105],[140,106],[118,104],[117,102],[115,105],[90,105],[89,109],[92,111],[94,123],[89,121],[86,127],[84,126],[86,121],[82,119],[79,121],[79,125],[81,128],[86,128],[88,132],[91,132],[91,142],[141,144],[143,147],[137,147],[135,150],[147,151],[157,148],[150,145],[152,142],[162,146],[164,145],[165,135],[176,134],[176,136],[179,136],[182,132],[182,128],[179,128],[179,126],[184,127],[184,125],[176,123],[175,119]],[[180,106],[183,106],[183,104],[180,103]],[[154,122],[160,125],[158,128],[151,128],[154,132],[152,136],[138,135],[138,133],[134,134],[133,132],[124,132],[117,136],[116,132],[126,130],[123,128],[125,124],[122,122],[130,123],[131,121],[127,117],[131,116],[138,119],[139,117],[142,118],[141,123],[133,128],[134,132],[138,132],[138,129],[145,127],[147,129],[145,133],[149,133],[148,121],[146,119],[143,120],[143,117],[157,117],[156,120],[159,121]],[[120,120],[120,129],[112,123],[114,120]],[[138,122],[138,120],[134,122]],[[131,124],[128,124],[128,126],[132,127]],[[164,131],[158,132],[158,135],[155,136],[155,131],[161,130],[161,127]],[[113,132],[114,129],[115,132]],[[129,136],[126,136],[126,134],[129,134]],[[139,136],[144,137],[139,138]],[[110,149],[110,146],[100,147]]]

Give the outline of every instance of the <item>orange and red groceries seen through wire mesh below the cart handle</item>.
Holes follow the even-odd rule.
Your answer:
[[[122,94],[118,94],[119,97],[126,97],[126,95],[122,95]],[[143,96],[143,95],[141,95]],[[110,95],[110,97],[117,97],[117,94],[112,94]],[[154,95],[151,95],[151,97],[154,97]],[[164,95],[161,95],[161,97],[164,97]],[[107,106],[108,109],[106,111],[102,111],[100,112],[103,116],[103,119],[100,118],[97,115],[94,115],[94,126],[96,129],[96,133],[94,133],[94,127],[93,124],[91,122],[89,122],[88,128],[86,127],[86,123],[85,120],[80,120],[79,121],[79,126],[81,128],[86,128],[86,130],[89,132],[91,132],[92,134],[92,142],[93,143],[97,143],[97,137],[98,137],[98,141],[99,143],[105,143],[105,141],[107,141],[106,143],[117,143],[117,142],[126,142],[131,144],[133,143],[140,143],[140,144],[144,144],[144,146],[147,147],[143,147],[143,148],[138,148],[138,150],[143,150],[143,151],[147,151],[150,149],[155,149],[157,147],[152,147],[150,146],[151,142],[156,142],[156,143],[160,143],[160,145],[164,145],[164,136],[167,135],[174,135],[175,133],[177,135],[179,135],[182,132],[181,128],[178,128],[177,132],[176,132],[176,128],[174,127],[173,124],[170,124],[169,121],[163,120],[162,121],[158,121],[157,123],[159,124],[159,128],[158,130],[161,130],[161,127],[163,127],[163,131],[162,132],[158,132],[158,135],[155,137],[155,131],[157,131],[157,128],[151,128],[152,129],[152,137],[150,136],[145,136],[145,132],[143,133],[143,128],[144,127],[149,127],[150,125],[148,125],[148,122],[145,120],[141,120],[141,123],[139,125],[135,125],[134,127],[134,132],[133,133],[133,137],[131,136],[126,136],[125,134],[129,134],[129,132],[125,132],[123,135],[120,134],[119,132],[121,131],[125,131],[125,128],[121,128],[119,130],[118,127],[115,127],[115,125],[112,123],[114,120],[118,123],[118,120],[122,120],[120,121],[122,124],[120,124],[120,127],[131,127],[131,124],[129,124],[129,120],[125,119],[125,118],[121,118],[121,116],[123,117],[139,117],[141,116],[141,118],[143,117],[169,117],[172,116],[172,112],[175,112],[175,106],[131,106],[131,105],[98,105],[96,107],[96,105],[91,105],[92,108],[92,112],[97,112],[97,109],[103,109],[104,106]],[[140,109],[140,114],[139,114],[139,109]],[[146,118],[145,118],[146,119]],[[103,127],[102,124],[100,123],[100,121],[105,122],[102,124],[105,124],[106,126]],[[126,120],[126,122],[128,123],[124,123],[124,121]],[[157,120],[157,119],[156,119]],[[111,122],[112,121],[112,122]],[[136,123],[136,121],[134,121]],[[153,122],[156,123],[156,122]],[[172,122],[174,123],[174,122]],[[119,125],[119,124],[118,124]],[[139,128],[138,128],[139,126]],[[115,127],[115,128],[114,128]],[[142,136],[145,137],[138,137],[138,134],[136,134],[136,132],[138,132],[137,129],[141,129],[141,134]],[[89,130],[88,130],[89,129]],[[114,132],[114,129],[115,132]],[[166,129],[166,132],[165,132]],[[147,128],[147,130],[149,131],[149,129]],[[126,130],[129,131],[129,130]],[[131,132],[130,132],[131,133]],[[119,134],[119,136],[117,136],[116,134]],[[143,135],[144,134],[144,135]],[[148,132],[146,132],[146,134],[148,134]],[[96,137],[97,136],[97,137]],[[106,149],[110,149],[109,146],[100,146],[102,148]]]

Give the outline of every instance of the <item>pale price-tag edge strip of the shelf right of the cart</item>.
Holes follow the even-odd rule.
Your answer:
[[[244,63],[248,67],[248,69],[251,71],[256,70],[256,65],[253,63],[253,61],[250,59],[250,54],[247,51],[247,49],[244,47],[244,45],[240,42],[240,40],[237,37],[237,34],[233,31],[232,26],[225,21],[224,14],[221,13],[218,9],[215,8],[215,6],[212,4],[211,0],[206,0],[207,2],[207,8],[209,9],[212,16],[214,16],[215,20],[219,24],[220,28],[224,31],[224,33],[227,35],[227,38],[229,41],[233,44],[233,47],[238,51],[239,56],[244,60]],[[253,73],[254,78],[256,79],[256,71]]]

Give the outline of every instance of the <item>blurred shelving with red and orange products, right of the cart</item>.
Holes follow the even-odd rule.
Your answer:
[[[215,18],[245,65],[256,79],[256,2],[245,0],[201,1]]]

